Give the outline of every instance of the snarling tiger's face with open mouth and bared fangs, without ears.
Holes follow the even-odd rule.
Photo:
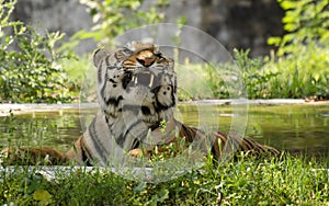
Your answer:
[[[141,105],[145,117],[175,105],[177,76],[172,59],[152,44],[133,43],[120,53],[126,71],[123,79],[127,88],[125,100]]]

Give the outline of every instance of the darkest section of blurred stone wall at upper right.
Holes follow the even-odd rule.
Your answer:
[[[203,0],[201,28],[231,50],[251,48],[268,54],[270,36],[283,34],[283,11],[276,0]],[[206,3],[208,2],[208,3]]]

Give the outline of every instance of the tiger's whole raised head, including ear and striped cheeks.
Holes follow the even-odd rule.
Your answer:
[[[148,128],[172,116],[177,102],[177,75],[171,58],[154,44],[133,42],[112,53],[97,50],[98,98],[102,111],[113,118],[129,111]],[[137,121],[138,121],[137,119]]]

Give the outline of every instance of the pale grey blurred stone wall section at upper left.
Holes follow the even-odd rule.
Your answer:
[[[19,0],[13,16],[43,32],[64,32],[65,38],[69,39],[76,32],[90,30],[92,26],[86,9],[79,0]],[[91,53],[94,48],[93,41],[83,41],[77,52]]]

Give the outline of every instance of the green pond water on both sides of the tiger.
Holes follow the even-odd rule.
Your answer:
[[[29,145],[67,150],[95,111],[70,108],[2,116],[0,149]],[[192,126],[219,127],[226,133],[241,128],[239,134],[242,130],[246,137],[279,149],[325,157],[329,153],[329,104],[253,104],[248,110],[246,106],[180,104],[175,115]]]

